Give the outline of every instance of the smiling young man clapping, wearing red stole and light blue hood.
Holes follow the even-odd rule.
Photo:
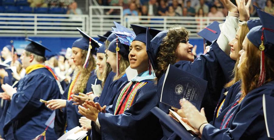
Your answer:
[[[138,75],[121,85],[113,105],[107,106],[105,113],[87,103],[84,106],[89,107],[89,110],[79,106],[81,114],[96,122],[102,139],[160,139],[162,137],[159,119],[150,113],[150,110],[158,105],[159,98],[156,94],[154,73],[148,70],[146,27],[131,26],[136,38],[130,45],[128,58],[130,67],[136,69]]]

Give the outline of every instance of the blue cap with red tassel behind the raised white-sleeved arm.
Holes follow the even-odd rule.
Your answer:
[[[214,40],[218,39],[219,35],[221,34],[219,24],[219,22],[214,21],[197,34],[209,42],[213,42]]]

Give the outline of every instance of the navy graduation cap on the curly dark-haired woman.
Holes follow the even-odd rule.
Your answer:
[[[160,31],[152,28],[146,28],[146,52],[149,57],[153,69],[156,67],[156,57],[159,46],[163,42],[163,38],[167,36],[167,31]],[[149,65],[150,67],[150,65]],[[151,68],[149,68],[149,73]]]

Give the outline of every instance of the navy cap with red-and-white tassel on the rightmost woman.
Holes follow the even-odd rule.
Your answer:
[[[256,8],[256,7],[255,7]],[[258,81],[258,87],[265,82],[265,55],[274,59],[274,16],[256,8],[262,25],[252,28],[247,38],[261,51],[261,71]]]

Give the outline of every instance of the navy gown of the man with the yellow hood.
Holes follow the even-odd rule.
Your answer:
[[[20,80],[6,112],[5,139],[33,139],[44,132],[45,122],[52,114],[40,99],[59,98],[58,84],[47,68],[36,69]],[[54,129],[48,128],[47,139],[56,139]]]

